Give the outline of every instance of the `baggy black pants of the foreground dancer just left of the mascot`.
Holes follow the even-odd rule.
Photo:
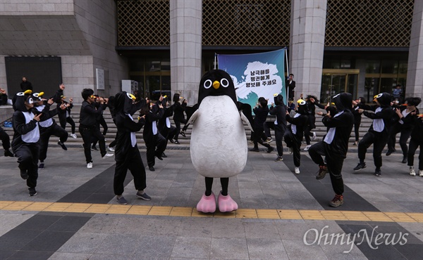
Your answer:
[[[140,150],[138,150],[137,145],[135,145],[135,147],[129,148],[125,156],[116,155],[116,157],[122,157],[123,160],[118,160],[116,158],[116,167],[113,181],[115,195],[122,195],[123,183],[125,181],[126,173],[128,170],[134,177],[135,189],[144,190],[147,187],[145,167],[142,163]]]

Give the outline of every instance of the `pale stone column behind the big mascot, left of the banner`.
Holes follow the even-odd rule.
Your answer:
[[[170,0],[171,90],[197,103],[201,79],[202,1]]]

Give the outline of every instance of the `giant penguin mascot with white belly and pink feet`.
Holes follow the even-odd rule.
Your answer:
[[[228,195],[229,177],[243,171],[247,163],[247,138],[243,122],[250,122],[238,112],[235,87],[231,76],[223,70],[204,74],[198,92],[198,110],[193,122],[190,153],[195,170],[205,177],[206,192],[197,204],[199,212],[215,212],[216,197],[213,178],[221,178],[220,212],[232,212],[238,204]]]

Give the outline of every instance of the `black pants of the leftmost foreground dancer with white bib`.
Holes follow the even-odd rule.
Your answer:
[[[19,169],[28,174],[27,186],[37,187],[39,143],[23,143],[13,147],[13,153],[18,157]]]

